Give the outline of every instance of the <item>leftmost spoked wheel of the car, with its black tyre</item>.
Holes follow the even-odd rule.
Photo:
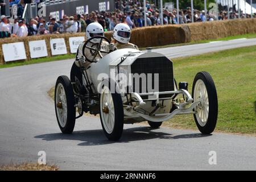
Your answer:
[[[57,78],[55,85],[55,113],[60,130],[71,134],[76,122],[75,96],[67,76]]]

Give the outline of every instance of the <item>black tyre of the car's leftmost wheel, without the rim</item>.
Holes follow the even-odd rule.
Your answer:
[[[67,101],[67,121],[63,124],[64,126],[61,126],[60,118],[58,117],[58,110],[57,108],[57,89],[58,85],[62,85],[65,91],[65,99]],[[73,92],[73,87],[71,84],[71,81],[67,76],[59,76],[56,81],[55,85],[55,113],[58,125],[60,127],[60,130],[64,134],[71,134],[73,132],[73,129],[75,127],[76,122],[76,108],[75,108],[75,95]],[[59,113],[60,115],[60,113]]]

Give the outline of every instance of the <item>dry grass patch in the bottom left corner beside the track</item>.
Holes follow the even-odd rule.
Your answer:
[[[44,164],[7,164],[0,166],[0,171],[58,171],[59,167],[55,165]]]

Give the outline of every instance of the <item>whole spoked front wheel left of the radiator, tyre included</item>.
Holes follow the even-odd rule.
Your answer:
[[[123,132],[123,104],[119,93],[111,93],[109,84],[102,86],[100,95],[101,125],[109,140],[119,140]]]

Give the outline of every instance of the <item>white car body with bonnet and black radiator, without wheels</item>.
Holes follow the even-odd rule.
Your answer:
[[[125,60],[122,61],[122,59]],[[135,63],[136,61],[138,61],[139,63]],[[143,62],[143,64],[141,64],[141,62]],[[167,67],[163,68],[165,66]],[[118,69],[119,73],[127,75],[127,82],[130,83],[129,93],[132,93],[131,97],[134,98],[135,101],[137,101],[137,104],[134,104],[135,106],[124,106],[125,123],[134,123],[146,120],[155,122],[165,121],[169,117],[166,119],[163,118],[165,118],[167,115],[170,115],[172,100],[174,100],[175,94],[178,93],[185,93],[188,98],[190,98],[187,104],[191,104],[192,102],[192,98],[187,90],[177,90],[174,81],[171,60],[168,60],[167,57],[160,53],[145,53],[135,49],[119,49],[104,56],[97,63],[92,63],[90,65],[87,71],[90,80],[92,80],[94,92],[97,92],[98,86],[101,84],[103,77],[112,78],[112,80],[114,80],[117,85],[121,87],[118,82]],[[139,72],[137,72],[138,69]],[[146,92],[135,93],[133,89],[134,85],[131,82],[131,80],[133,80],[133,77],[129,76],[129,73],[138,73],[138,75],[140,75],[141,73],[157,73],[159,75],[159,79],[162,79],[162,81],[158,81],[158,83],[160,84],[160,90],[152,90],[151,93],[149,93],[147,89],[144,89]],[[153,79],[154,78],[152,78],[151,80]],[[148,80],[147,78],[147,82],[148,81],[150,80]],[[140,84],[142,83],[140,82]],[[140,85],[140,89],[141,87],[142,85]],[[164,92],[166,93],[163,94]],[[121,92],[121,96],[123,103],[126,103],[127,97],[125,97],[125,93]],[[141,103],[139,102],[140,100]],[[152,112],[157,104],[160,104],[160,106],[158,107],[158,109]],[[134,109],[130,107],[137,107],[136,110],[141,112],[134,111]],[[192,109],[193,108],[191,108],[189,111],[191,111]],[[147,115],[146,113],[142,114],[143,111],[147,111],[147,113],[150,113],[151,115]]]

